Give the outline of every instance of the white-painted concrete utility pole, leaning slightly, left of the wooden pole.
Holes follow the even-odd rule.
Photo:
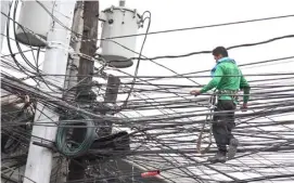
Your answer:
[[[55,2],[54,9],[52,11],[54,16],[66,27],[72,27],[74,8],[76,1],[62,1]],[[57,12],[57,13],[54,13]],[[44,74],[49,75],[65,75],[66,63],[68,56],[68,48],[71,41],[71,31],[65,29],[62,25],[53,21],[52,27],[48,34],[48,48],[44,54],[43,69]],[[55,84],[60,88],[64,87],[65,77],[47,77],[46,80],[54,80]],[[54,89],[54,87],[52,87]],[[51,90],[52,90],[51,88]],[[41,90],[44,92],[51,92],[51,90],[44,84],[41,84]],[[52,93],[52,92],[51,92]],[[55,92],[52,95],[56,97],[62,96],[62,92],[59,92],[55,88]],[[35,114],[35,123],[38,122],[50,122],[59,120],[59,115],[52,112],[50,108],[41,103],[37,104],[37,110]],[[49,148],[34,145],[33,142],[48,143],[48,141],[55,141],[56,128],[54,127],[43,127],[34,126],[33,136],[28,151],[28,158],[26,164],[24,183],[49,183],[51,169],[52,169],[52,152]],[[43,141],[44,139],[48,141]]]

